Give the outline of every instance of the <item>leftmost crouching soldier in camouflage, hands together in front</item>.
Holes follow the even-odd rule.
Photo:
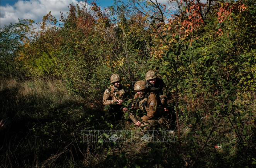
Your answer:
[[[110,78],[111,85],[105,90],[103,95],[103,105],[105,105],[105,112],[114,113],[115,119],[121,119],[122,111],[128,111],[126,107],[123,107],[123,99],[127,93],[121,84],[121,77],[118,74],[113,74]],[[115,115],[116,113],[116,115]]]

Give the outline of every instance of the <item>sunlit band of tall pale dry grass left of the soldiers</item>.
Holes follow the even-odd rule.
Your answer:
[[[1,81],[2,113],[15,118],[29,115],[42,118],[50,115],[49,110],[75,101],[61,81],[24,81],[13,79]]]

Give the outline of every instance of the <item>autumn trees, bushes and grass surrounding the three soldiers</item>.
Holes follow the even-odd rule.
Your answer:
[[[255,166],[256,4],[198,2],[181,1],[177,14],[150,0],[108,12],[71,4],[61,26],[49,12],[40,31],[33,20],[3,27],[0,119],[12,122],[0,165]],[[81,130],[134,129],[103,112],[102,95],[112,73],[132,89],[149,69],[167,84],[177,120],[161,129],[177,141],[83,142]]]

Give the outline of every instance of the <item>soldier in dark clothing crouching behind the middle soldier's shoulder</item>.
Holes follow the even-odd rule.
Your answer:
[[[153,70],[149,70],[146,73],[146,87],[149,92],[154,92],[156,96],[160,97],[162,106],[167,106],[167,90],[166,84],[162,79],[158,78]],[[166,109],[167,110],[167,109]]]

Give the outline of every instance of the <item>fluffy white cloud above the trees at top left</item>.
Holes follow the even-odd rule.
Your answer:
[[[69,11],[68,6],[71,3],[77,3],[79,6],[85,4],[79,0],[19,0],[13,6],[0,6],[0,26],[3,27],[11,22],[17,23],[18,19],[41,21],[49,11],[58,19],[60,12],[65,14]]]

